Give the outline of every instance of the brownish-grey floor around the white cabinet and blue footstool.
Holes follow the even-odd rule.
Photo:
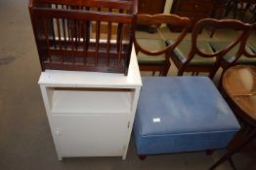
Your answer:
[[[132,138],[126,160],[81,157],[59,161],[37,85],[39,75],[27,0],[0,0],[0,170],[205,170],[225,153],[152,155],[141,161]],[[175,75],[174,66],[169,75]],[[255,158],[255,153],[237,153],[235,165],[240,170],[256,169]],[[231,166],[226,162],[218,169]]]

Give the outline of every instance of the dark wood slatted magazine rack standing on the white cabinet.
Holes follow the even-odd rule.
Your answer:
[[[29,12],[43,71],[127,74],[137,0],[30,0]],[[93,24],[95,35],[90,31]],[[101,37],[103,24],[107,38]]]

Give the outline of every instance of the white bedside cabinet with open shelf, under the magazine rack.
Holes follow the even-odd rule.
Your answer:
[[[125,159],[142,85],[134,51],[127,76],[46,70],[38,84],[60,160],[74,156]]]

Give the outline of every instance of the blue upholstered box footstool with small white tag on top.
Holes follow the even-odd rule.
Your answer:
[[[239,128],[210,79],[143,78],[134,123],[139,155],[223,149]]]

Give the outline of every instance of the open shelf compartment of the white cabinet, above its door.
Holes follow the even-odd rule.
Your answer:
[[[48,88],[53,114],[127,114],[132,109],[131,88]]]

